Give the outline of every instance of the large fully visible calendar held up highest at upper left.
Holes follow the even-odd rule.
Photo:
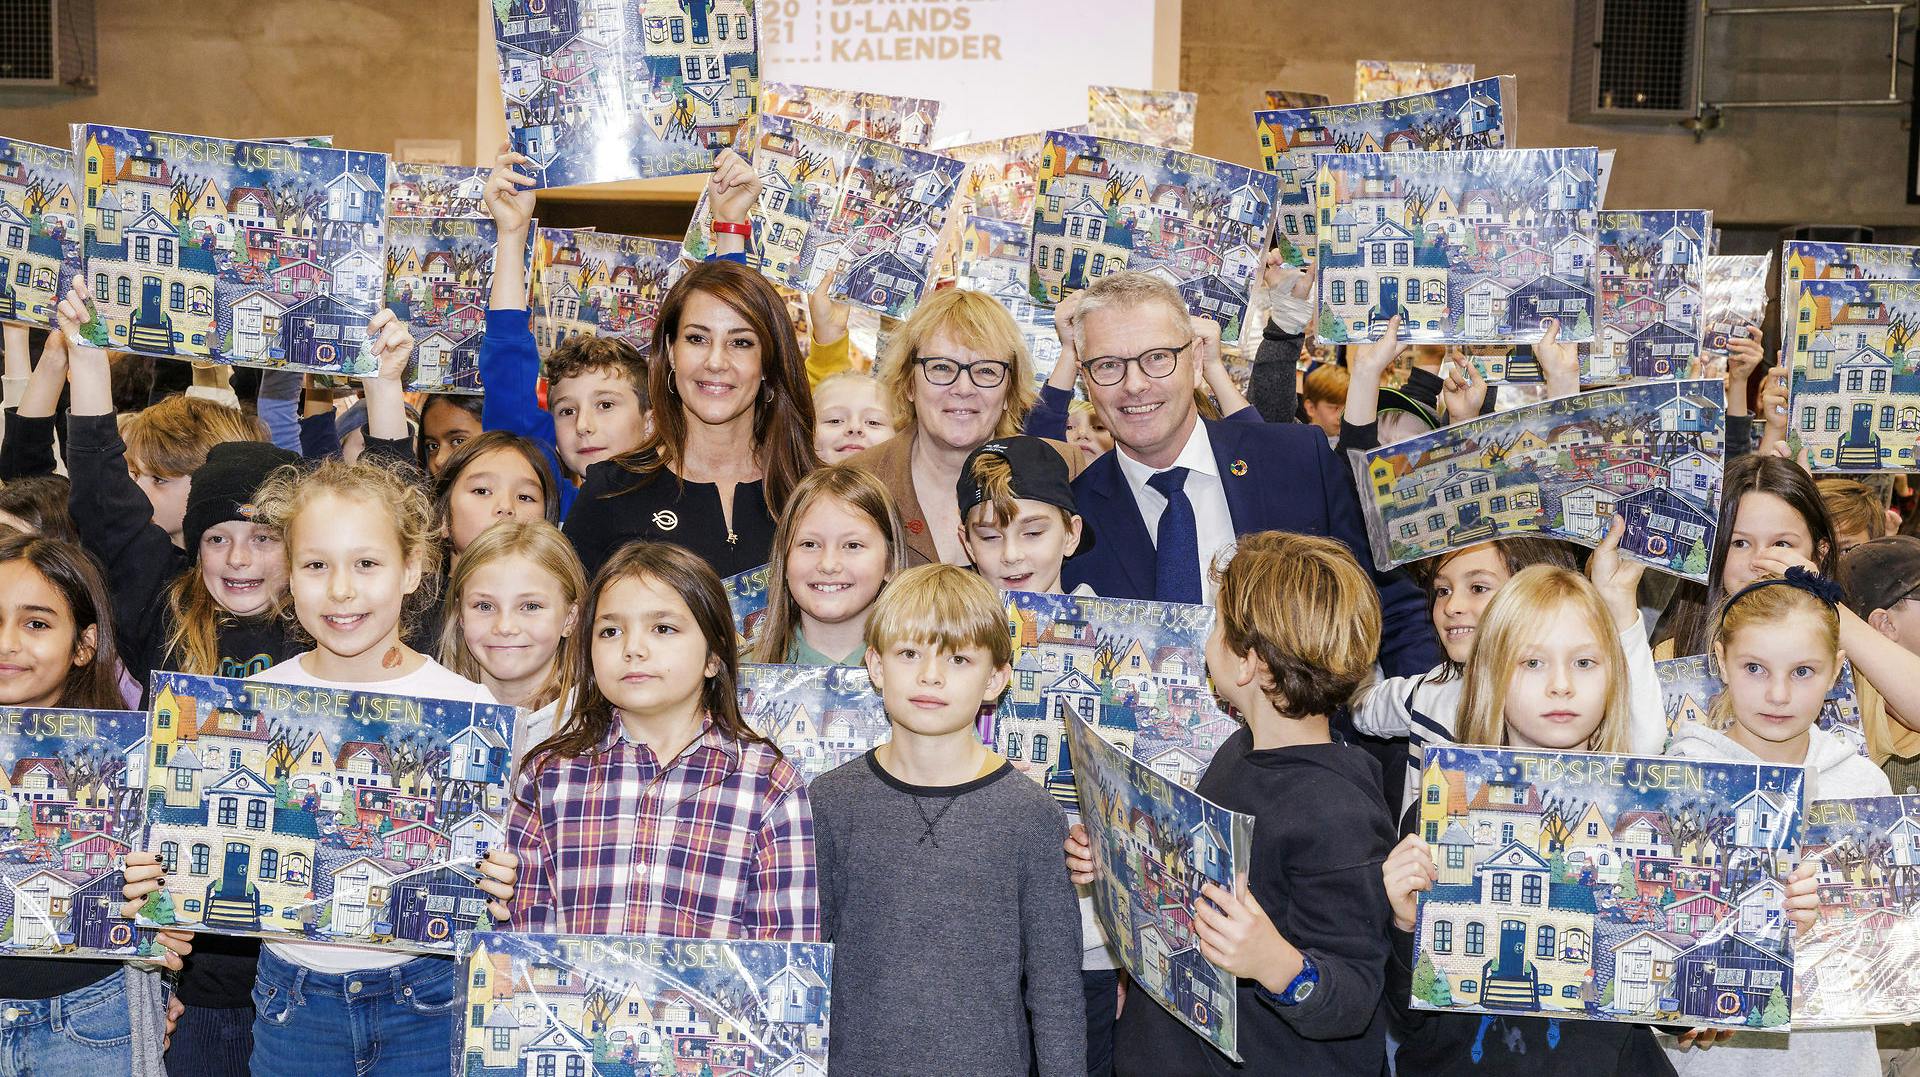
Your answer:
[[[386,154],[75,125],[100,347],[365,374]]]

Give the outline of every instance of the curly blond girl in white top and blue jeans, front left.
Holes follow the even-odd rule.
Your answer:
[[[376,334],[382,374],[405,363],[405,326]],[[396,359],[397,357],[397,359]],[[399,380],[380,376],[369,397]],[[372,399],[369,411],[372,411]],[[397,403],[380,401],[380,403]],[[374,461],[321,467],[269,480],[255,497],[257,520],[278,528],[288,557],[288,591],[313,649],[253,680],[495,703],[486,687],[407,647],[407,614],[432,603],[440,545],[432,503],[420,484]],[[480,862],[488,910],[507,920],[516,864],[505,850]],[[161,887],[152,852],[127,856],[127,898]],[[134,906],[129,906],[129,914]],[[415,1077],[445,1067],[455,1021],[455,962],[344,945],[269,943],[253,983],[255,1075]]]

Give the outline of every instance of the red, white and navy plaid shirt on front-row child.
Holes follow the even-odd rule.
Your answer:
[[[806,785],[712,720],[664,768],[614,720],[591,754],[524,770],[507,843],[515,931],[820,941]]]

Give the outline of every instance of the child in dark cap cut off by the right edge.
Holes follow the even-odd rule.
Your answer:
[[[1849,549],[1839,559],[1839,586],[1855,616],[1920,655],[1920,538],[1887,536]],[[1853,676],[1853,695],[1860,705],[1868,756],[1887,772],[1895,793],[1920,789],[1920,733],[1891,712],[1860,670]]]

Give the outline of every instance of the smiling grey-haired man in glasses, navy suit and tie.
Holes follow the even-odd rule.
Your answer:
[[[1354,551],[1380,591],[1380,666],[1413,676],[1440,660],[1427,597],[1404,572],[1373,566],[1354,476],[1315,426],[1210,422],[1194,407],[1219,328],[1190,319],[1173,286],[1123,271],[1081,298],[1062,332],[1114,451],[1073,480],[1100,543],[1068,559],[1062,584],[1102,597],[1212,603],[1213,559],[1236,536],[1329,536]]]

